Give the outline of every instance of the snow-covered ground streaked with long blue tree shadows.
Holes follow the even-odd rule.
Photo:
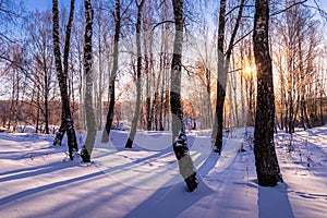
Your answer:
[[[132,149],[124,148],[128,132],[111,131],[108,144],[98,133],[88,167],[63,161],[66,147],[52,146],[53,135],[1,133],[0,216],[323,218],[326,133],[322,126],[276,135],[284,179],[277,187],[256,183],[253,129],[229,132],[221,157],[211,153],[209,134],[189,133],[199,179],[193,193],[179,175],[169,132],[138,132]]]

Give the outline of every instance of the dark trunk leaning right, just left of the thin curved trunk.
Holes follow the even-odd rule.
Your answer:
[[[109,94],[110,94],[110,100],[109,100],[109,110],[107,114],[107,120],[106,120],[106,125],[105,130],[102,133],[102,143],[109,142],[109,134],[113,121],[113,116],[114,116],[114,82],[116,82],[116,76],[117,76],[117,71],[118,71],[118,44],[119,44],[119,36],[120,36],[120,0],[116,0],[116,13],[114,13],[114,45],[113,45],[113,65],[112,65],[112,72],[110,75],[110,81],[109,81]]]

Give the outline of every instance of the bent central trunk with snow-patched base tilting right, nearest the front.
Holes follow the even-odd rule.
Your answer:
[[[179,169],[187,184],[190,192],[197,187],[196,170],[189,154],[187,138],[183,122],[181,104],[181,73],[183,48],[183,0],[172,0],[174,14],[174,44],[171,63],[170,107],[172,113],[172,142],[173,152],[179,160]]]

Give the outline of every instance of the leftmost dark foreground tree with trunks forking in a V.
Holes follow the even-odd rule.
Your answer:
[[[64,56],[63,56],[63,63],[64,69],[62,69],[61,64],[61,51],[60,51],[60,37],[59,37],[59,10],[58,10],[58,0],[52,0],[52,16],[53,16],[53,52],[55,52],[55,62],[56,62],[56,70],[57,76],[60,87],[60,95],[61,95],[61,102],[62,102],[62,130],[66,131],[68,134],[68,146],[69,146],[69,155],[70,158],[73,159],[73,150],[78,150],[77,141],[75,135],[75,130],[73,125],[73,118],[71,116],[70,109],[70,99],[68,96],[68,53],[70,50],[70,36],[71,36],[71,28],[73,22],[73,14],[74,14],[74,0],[71,1],[71,10],[70,10],[70,17],[69,23],[66,26],[66,35],[64,41]],[[57,141],[57,138],[55,140]]]

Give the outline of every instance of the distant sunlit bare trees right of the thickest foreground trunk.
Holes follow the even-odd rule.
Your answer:
[[[286,1],[284,8],[294,1]],[[318,87],[320,81],[316,65],[320,41],[318,22],[310,9],[293,5],[283,12],[276,24],[272,44],[275,64],[279,73],[278,119],[279,128],[293,133],[295,126],[304,130],[318,122]]]

